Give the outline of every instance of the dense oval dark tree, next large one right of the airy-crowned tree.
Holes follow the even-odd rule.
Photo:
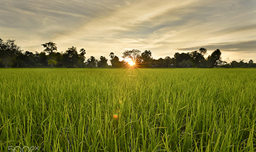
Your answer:
[[[67,68],[75,68],[78,64],[78,58],[76,47],[72,46],[63,54],[62,61]]]

